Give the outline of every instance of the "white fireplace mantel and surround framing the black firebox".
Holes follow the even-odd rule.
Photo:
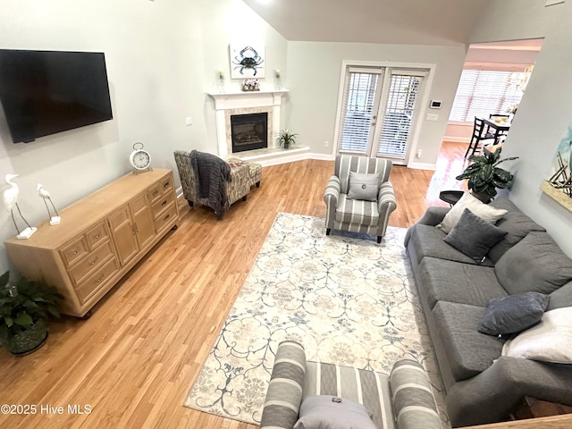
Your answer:
[[[240,113],[268,112],[268,146],[272,147],[275,136],[280,132],[282,98],[288,92],[288,89],[208,92],[208,96],[214,99],[216,139],[219,156],[231,154],[230,114],[233,112],[236,114],[238,111],[240,111]]]

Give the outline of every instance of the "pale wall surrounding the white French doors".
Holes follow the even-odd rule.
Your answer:
[[[465,46],[289,42],[287,83],[291,93],[287,122],[299,133],[300,144],[311,147],[314,154],[332,156],[343,60],[432,63],[435,69],[429,99],[442,100],[442,109],[423,106],[421,129],[412,147],[422,150],[416,164],[434,167],[465,56]],[[428,113],[439,114],[439,120],[426,121]],[[329,147],[324,147],[325,140],[330,142]]]

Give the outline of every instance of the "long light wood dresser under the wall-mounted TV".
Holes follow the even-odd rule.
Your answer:
[[[133,265],[176,228],[171,170],[129,173],[59,211],[28,240],[4,242],[20,273],[55,286],[63,313],[83,317]]]

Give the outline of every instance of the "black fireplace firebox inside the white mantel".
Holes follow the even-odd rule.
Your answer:
[[[268,114],[231,114],[232,152],[268,147]]]

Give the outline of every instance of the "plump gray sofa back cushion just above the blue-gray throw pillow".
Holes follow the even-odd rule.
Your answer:
[[[572,281],[572,259],[546,232],[529,232],[499,259],[494,273],[509,295],[549,294]]]

